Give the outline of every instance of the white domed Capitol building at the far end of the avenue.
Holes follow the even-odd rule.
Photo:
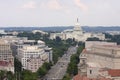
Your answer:
[[[75,41],[86,41],[87,38],[99,38],[100,40],[105,39],[105,35],[103,33],[88,33],[84,32],[78,22],[75,24],[73,29],[64,30],[61,33],[51,33],[50,39],[55,39],[56,37],[60,37],[62,40],[66,39],[75,39]]]

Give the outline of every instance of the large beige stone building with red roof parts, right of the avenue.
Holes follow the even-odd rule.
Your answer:
[[[78,69],[79,74],[87,78],[120,80],[120,46],[110,42],[86,42]]]

